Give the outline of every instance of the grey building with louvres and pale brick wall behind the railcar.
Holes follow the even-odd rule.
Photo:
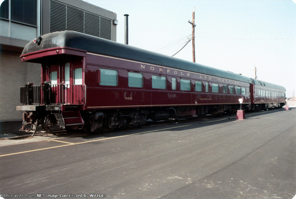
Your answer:
[[[51,32],[74,30],[116,41],[114,12],[81,0],[4,0],[0,6],[0,122],[21,121],[20,87],[41,83],[41,66],[21,62],[25,45]]]

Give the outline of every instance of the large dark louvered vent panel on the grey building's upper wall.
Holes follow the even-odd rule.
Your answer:
[[[111,40],[112,20],[50,0],[50,32],[74,30]]]

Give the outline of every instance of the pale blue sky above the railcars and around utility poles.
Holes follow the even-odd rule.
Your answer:
[[[293,1],[85,0],[117,14],[117,42],[157,50],[192,33],[196,62],[296,90],[296,4]],[[181,49],[182,46],[179,48]],[[179,49],[163,54],[173,55]],[[175,57],[192,61],[192,42]]]

